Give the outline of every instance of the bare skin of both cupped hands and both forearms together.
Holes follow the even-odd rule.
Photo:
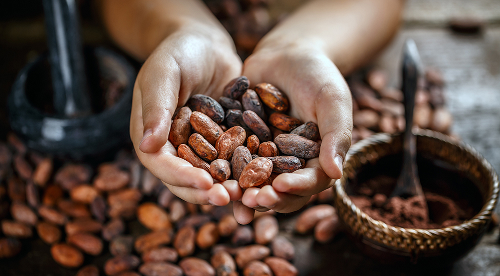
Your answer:
[[[365,64],[397,30],[401,0],[313,0],[257,44],[244,61],[228,33],[198,0],[103,0],[113,39],[145,62],[134,85],[130,137],[142,164],[172,193],[195,204],[233,202],[236,220],[254,210],[292,212],[342,176],[350,147],[352,100],[342,75]],[[373,27],[376,26],[376,27]],[[231,79],[269,82],[284,91],[290,115],[317,123],[318,158],[280,174],[272,186],[241,191],[234,180],[216,183],[178,158],[167,141],[175,109],[192,94],[215,99]]]

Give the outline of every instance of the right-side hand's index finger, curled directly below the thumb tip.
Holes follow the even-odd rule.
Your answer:
[[[321,169],[317,158],[308,160],[304,169],[279,174],[272,181],[272,188],[277,192],[297,196],[311,196],[331,185],[331,179]]]

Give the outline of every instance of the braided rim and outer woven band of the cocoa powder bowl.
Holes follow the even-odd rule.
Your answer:
[[[339,211],[339,216],[347,225],[347,228],[354,232],[354,234],[362,236],[371,243],[405,253],[445,249],[469,238],[470,236],[480,232],[481,229],[485,228],[491,219],[492,212],[495,209],[498,200],[498,194],[500,191],[498,175],[491,164],[484,157],[482,157],[482,155],[480,155],[471,146],[461,141],[451,138],[445,134],[427,129],[414,129],[413,133],[417,137],[421,136],[437,139],[441,140],[443,143],[450,144],[453,147],[458,147],[461,151],[470,154],[473,158],[478,160],[478,165],[484,167],[484,169],[489,172],[491,182],[488,186],[491,187],[488,187],[488,190],[491,194],[485,199],[481,210],[474,217],[459,225],[439,229],[402,228],[387,225],[382,221],[375,220],[352,203],[350,197],[344,190],[344,186],[347,184],[349,170],[350,172],[353,172],[353,170],[369,162],[369,160],[366,160],[367,158],[365,158],[365,162],[361,162],[363,164],[354,168],[351,164],[354,162],[353,158],[361,155],[363,150],[369,147],[381,143],[392,143],[395,137],[399,137],[401,135],[400,133],[393,135],[387,133],[376,133],[357,142],[349,149],[346,155],[342,178],[334,183],[334,204]],[[350,218],[349,214],[351,214]]]

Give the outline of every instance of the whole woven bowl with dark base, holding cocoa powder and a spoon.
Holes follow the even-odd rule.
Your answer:
[[[349,179],[354,179],[363,165],[402,151],[402,136],[385,133],[375,134],[351,147],[343,176],[334,185],[334,205],[349,236],[368,256],[383,263],[447,264],[468,253],[485,232],[498,199],[498,175],[470,146],[429,130],[414,133],[417,153],[444,161],[475,179],[473,182],[482,196],[482,208],[473,218],[441,229],[408,229],[374,220],[358,209],[345,192]]]

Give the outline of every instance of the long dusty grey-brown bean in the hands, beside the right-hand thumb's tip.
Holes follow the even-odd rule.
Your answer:
[[[319,144],[296,134],[279,134],[274,138],[279,151],[299,158],[316,158],[319,156]]]

